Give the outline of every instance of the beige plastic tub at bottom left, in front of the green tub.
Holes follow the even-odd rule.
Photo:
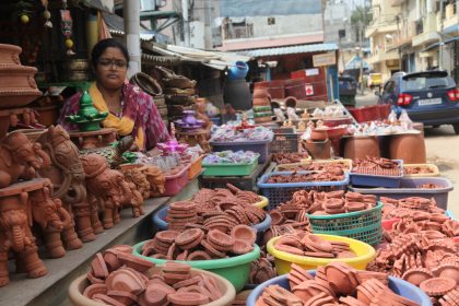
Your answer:
[[[160,268],[156,268],[160,269]],[[232,283],[229,283],[226,279],[208,271],[203,270],[197,270],[192,269],[191,273],[196,274],[199,271],[199,273],[207,274],[209,276],[212,276],[220,290],[224,293],[222,297],[220,297],[217,301],[214,301],[212,303],[204,304],[207,306],[226,306],[231,305],[233,299],[236,296],[236,291]],[[69,286],[69,299],[72,303],[72,305],[75,306],[104,306],[106,304],[101,304],[95,301],[92,301],[83,295],[84,289],[90,285],[90,281],[87,280],[86,275],[81,275],[74,281],[71,282]]]

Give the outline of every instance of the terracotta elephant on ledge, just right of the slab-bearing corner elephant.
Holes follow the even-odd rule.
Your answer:
[[[78,249],[83,243],[78,237],[70,213],[63,209],[62,201],[52,199],[52,185],[33,191],[30,198],[33,220],[39,225],[45,247],[51,258],[66,255],[62,240],[68,249]],[[62,236],[62,238],[61,238]]]

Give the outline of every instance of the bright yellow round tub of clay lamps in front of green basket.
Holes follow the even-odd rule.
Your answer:
[[[267,249],[268,252],[274,256],[275,271],[278,274],[286,274],[290,272],[290,266],[296,263],[303,267],[306,270],[314,270],[317,267],[326,266],[329,262],[339,261],[345,262],[355,269],[365,270],[366,264],[370,262],[376,257],[375,249],[365,243],[332,235],[315,234],[330,242],[345,242],[350,245],[351,250],[357,255],[354,258],[340,258],[340,259],[330,259],[330,258],[314,258],[307,256],[292,255],[285,251],[280,251],[274,248],[275,243],[279,240],[279,237],[274,237],[268,242]]]

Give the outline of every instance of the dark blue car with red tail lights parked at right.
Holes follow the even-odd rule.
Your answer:
[[[391,104],[425,126],[452,125],[459,134],[459,87],[446,71],[397,72],[386,82],[378,104]]]

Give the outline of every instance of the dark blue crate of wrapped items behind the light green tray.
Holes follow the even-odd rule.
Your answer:
[[[259,153],[258,163],[262,164],[268,160],[270,154],[270,143],[272,139],[269,140],[259,140],[259,141],[234,141],[234,142],[210,142],[212,145],[213,152],[221,151],[251,151]]]

